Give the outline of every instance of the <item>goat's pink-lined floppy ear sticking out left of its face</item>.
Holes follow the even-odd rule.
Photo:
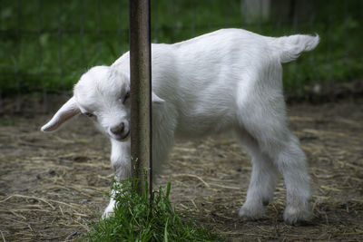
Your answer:
[[[41,131],[55,131],[57,130],[64,121],[67,121],[74,117],[74,115],[78,114],[80,109],[78,108],[77,103],[72,97],[70,100],[64,103],[62,108],[60,108],[53,116],[51,121],[48,121],[41,129]]]

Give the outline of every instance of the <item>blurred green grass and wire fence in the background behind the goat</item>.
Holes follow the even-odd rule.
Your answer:
[[[304,96],[363,77],[363,1],[152,1],[152,42],[174,43],[226,27],[280,36],[314,34],[319,48],[284,66],[286,92]],[[93,65],[128,51],[128,0],[1,0],[0,112],[5,97],[22,111],[29,93],[48,111]],[[14,98],[15,97],[15,98]]]

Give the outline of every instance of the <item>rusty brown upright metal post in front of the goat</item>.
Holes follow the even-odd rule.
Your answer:
[[[140,194],[144,171],[152,194],[152,64],[150,1],[129,0],[132,179]]]

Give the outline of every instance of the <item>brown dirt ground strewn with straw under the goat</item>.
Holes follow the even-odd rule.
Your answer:
[[[0,116],[0,240],[73,240],[108,203],[109,140],[84,117],[43,134],[50,116]],[[172,181],[175,207],[229,241],[363,241],[363,98],[290,104],[289,121],[309,158],[308,224],[284,223],[281,179],[264,218],[238,218],[250,160],[230,137],[178,141],[157,184]]]

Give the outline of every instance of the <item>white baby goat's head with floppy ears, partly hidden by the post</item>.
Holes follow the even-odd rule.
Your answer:
[[[163,100],[152,92],[152,103]],[[114,140],[130,134],[130,78],[114,67],[96,66],[74,86],[74,96],[64,103],[42,131],[55,131],[79,113],[95,121]]]

